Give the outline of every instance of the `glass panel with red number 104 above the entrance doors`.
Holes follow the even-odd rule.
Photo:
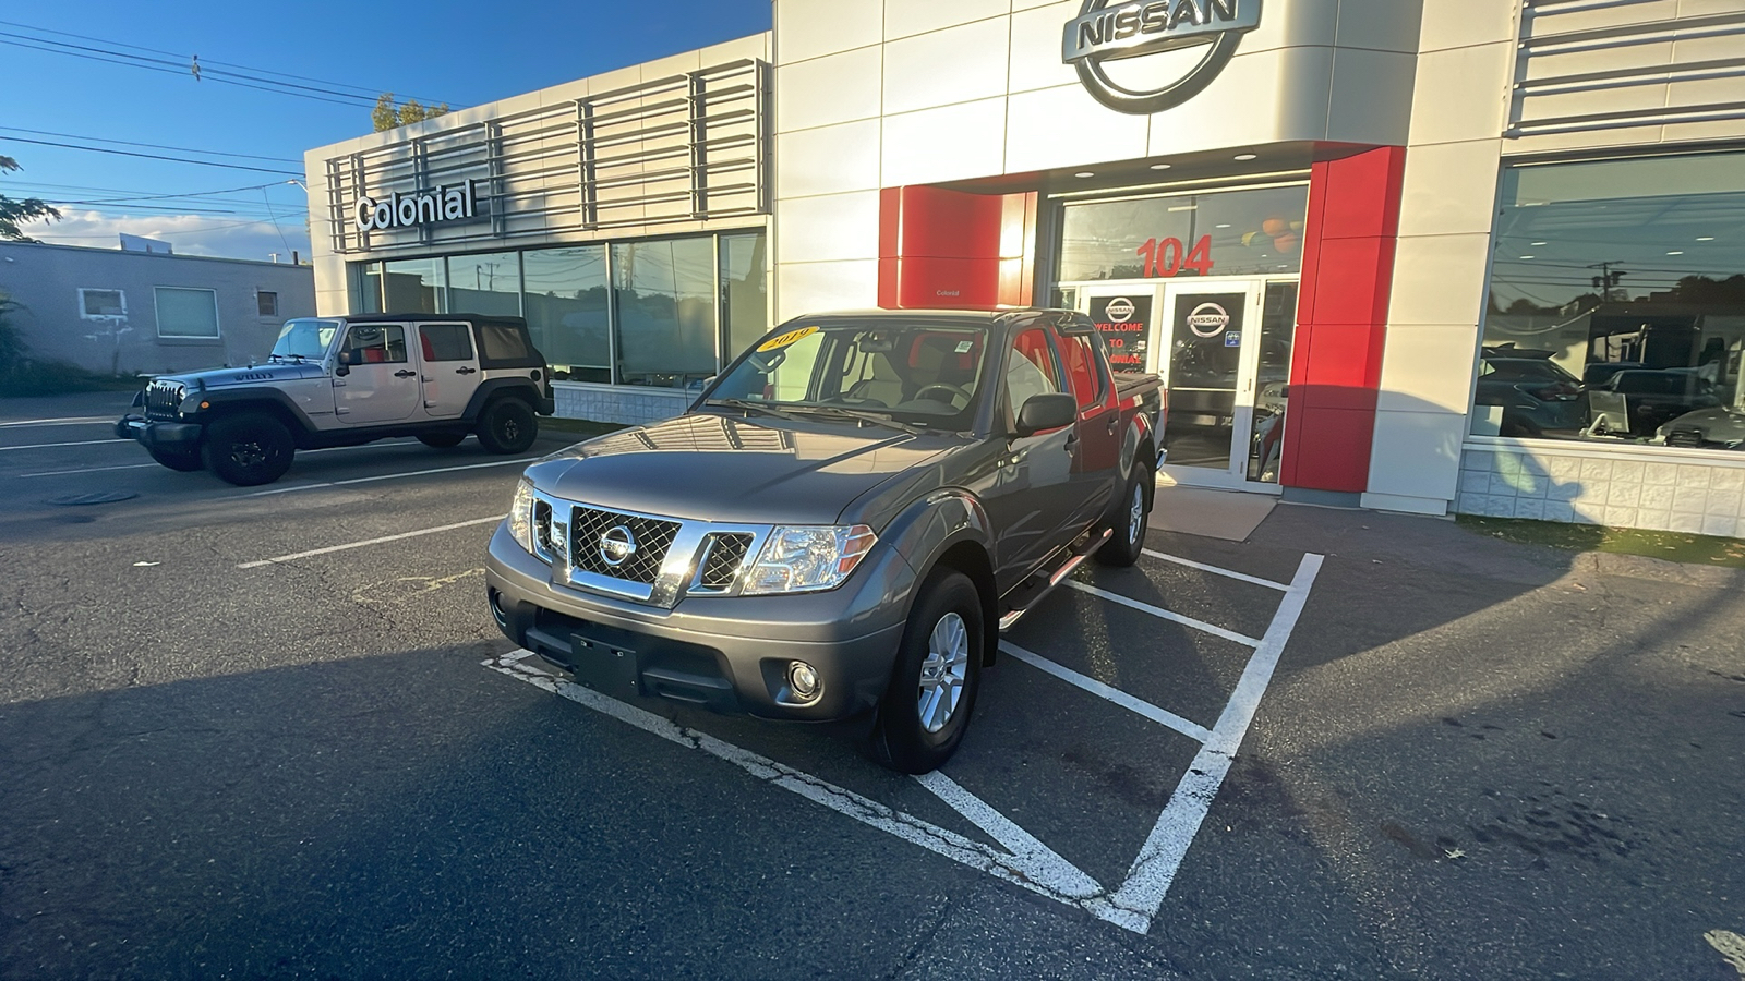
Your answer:
[[[1059,281],[1297,272],[1307,213],[1307,185],[1071,202]]]

